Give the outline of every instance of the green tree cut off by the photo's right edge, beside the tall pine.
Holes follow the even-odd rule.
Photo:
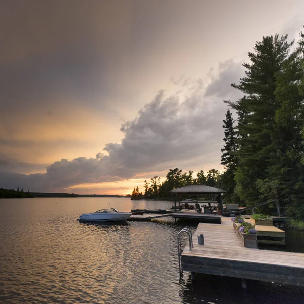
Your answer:
[[[286,206],[289,216],[304,219],[304,166],[301,159],[304,142],[304,94],[299,85],[304,79],[303,39],[276,74],[275,96],[279,108],[271,132],[273,150],[269,157],[268,176],[258,180],[262,196]]]

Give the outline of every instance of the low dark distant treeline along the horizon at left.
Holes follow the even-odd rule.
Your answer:
[[[48,193],[48,192],[24,192],[23,189],[0,188],[0,199],[23,199],[23,198],[123,198],[131,195],[113,194],[75,194],[75,193]]]

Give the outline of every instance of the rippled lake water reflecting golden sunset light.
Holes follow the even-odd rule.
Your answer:
[[[304,303],[304,289],[189,273],[180,280],[174,221],[85,224],[126,198],[0,200],[1,303]],[[170,207],[136,201],[138,208]],[[195,226],[192,227],[193,231]]]

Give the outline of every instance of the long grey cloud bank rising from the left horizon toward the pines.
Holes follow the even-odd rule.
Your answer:
[[[43,174],[25,175],[2,170],[0,184],[31,191],[64,191],[77,188],[79,184],[122,181],[174,167],[221,169],[222,120],[227,110],[223,99],[234,96],[230,87],[224,90],[222,86],[236,81],[238,73],[236,63],[220,64],[219,74],[214,76],[206,91],[200,79],[181,77],[179,82],[184,86],[183,91],[173,95],[159,91],[133,120],[121,125],[124,137],[120,143],[106,144],[103,153],[97,153],[94,158],[56,161],[47,166]],[[18,141],[2,142],[20,145]],[[21,145],[28,144],[31,142],[25,141]],[[2,165],[9,166],[8,163]]]

